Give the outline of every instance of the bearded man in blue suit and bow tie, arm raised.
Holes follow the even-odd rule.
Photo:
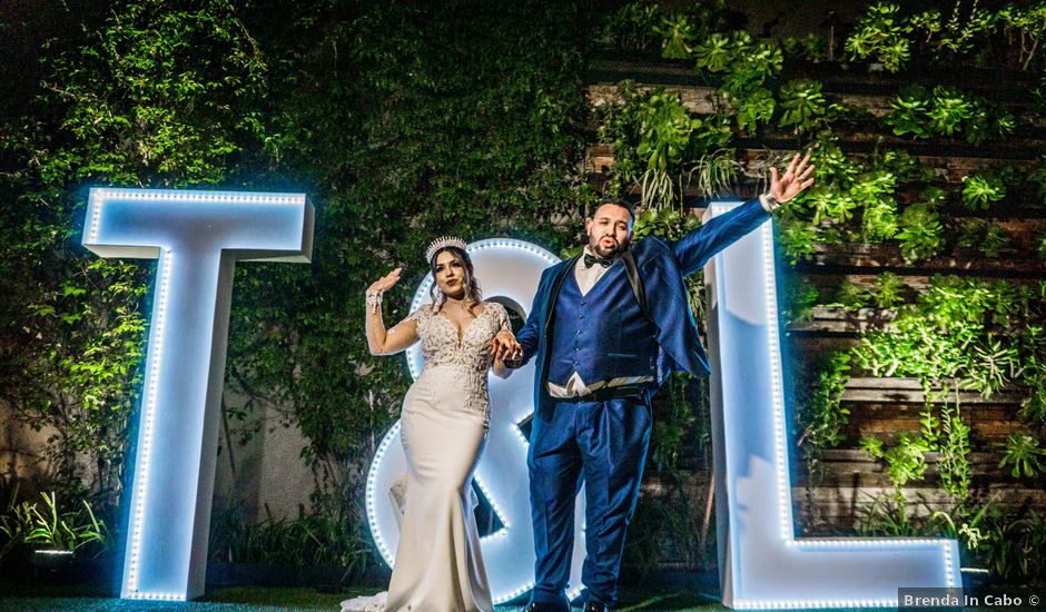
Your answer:
[[[499,337],[496,351],[537,357],[530,437],[535,586],[526,611],[568,611],[574,497],[585,484],[585,612],[611,610],[625,530],[650,442],[650,398],[664,376],[710,374],[687,302],[683,277],[770,218],[813,182],[810,156],[792,158],[770,191],[694,229],[674,244],[649,237],[634,245],[632,208],[604,200],[585,225],[584,253],[546,269],[519,347]]]

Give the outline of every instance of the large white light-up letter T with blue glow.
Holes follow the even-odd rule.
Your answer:
[[[237,259],[312,257],[304,194],[91,189],[83,246],[157,258],[121,596],[204,592]]]

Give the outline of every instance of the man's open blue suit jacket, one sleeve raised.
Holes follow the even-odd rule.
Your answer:
[[[694,376],[708,376],[711,373],[708,356],[690,314],[683,277],[701,269],[713,255],[762,225],[768,218],[770,215],[763,210],[758,199],[753,199],[711,219],[675,243],[647,237],[633,244],[632,255],[647,296],[647,314],[655,327],[654,335],[660,347],[660,355],[651,356],[657,357],[660,364],[659,378],[673,369],[685,371]],[[552,351],[552,323],[563,283],[576,261],[578,258],[573,257],[542,273],[530,316],[517,336],[523,346],[523,363],[535,355],[539,357],[534,377],[534,405],[539,413],[543,412],[543,408],[551,408],[552,398],[546,393],[545,383],[549,379]],[[623,275],[620,280],[628,283]],[[631,293],[629,296],[632,302],[628,304],[598,307],[632,307],[634,297]],[[613,330],[606,330],[611,332]],[[582,354],[581,357],[591,359],[596,356]],[[585,382],[593,383],[598,379],[605,377],[596,373],[595,378]]]

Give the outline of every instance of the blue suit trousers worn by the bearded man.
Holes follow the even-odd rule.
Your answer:
[[[565,595],[574,547],[574,499],[585,485],[586,600],[618,600],[624,536],[650,444],[649,395],[603,402],[556,401],[532,422],[527,467],[534,523],[532,601],[569,610]]]

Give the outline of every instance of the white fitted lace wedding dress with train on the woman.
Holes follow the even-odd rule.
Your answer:
[[[473,514],[472,475],[490,426],[490,342],[505,308],[484,310],[458,336],[426,304],[417,320],[425,367],[399,416],[407,458],[406,509],[388,593],[342,602],[343,612],[489,612],[494,609]]]

